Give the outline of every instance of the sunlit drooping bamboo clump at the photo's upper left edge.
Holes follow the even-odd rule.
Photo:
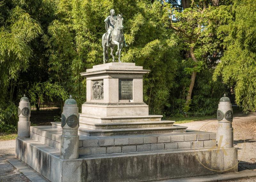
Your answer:
[[[29,59],[32,57],[29,42],[42,33],[40,25],[18,6],[8,14],[5,25],[0,27],[0,69],[2,70],[0,89],[2,93],[7,92],[8,86],[12,84],[10,82],[17,81],[20,71],[28,69]]]

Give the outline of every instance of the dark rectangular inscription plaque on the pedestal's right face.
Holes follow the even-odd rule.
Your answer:
[[[119,79],[119,100],[132,100],[133,79]]]

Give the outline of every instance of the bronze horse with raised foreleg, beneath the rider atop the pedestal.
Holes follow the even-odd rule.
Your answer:
[[[119,14],[116,16],[116,23],[114,25],[114,30],[111,33],[111,41],[109,44],[110,55],[112,55],[112,62],[115,62],[115,56],[113,55],[113,50],[114,50],[115,46],[117,46],[116,55],[118,55],[118,62],[121,62],[120,55],[121,55],[121,50],[124,45],[123,21],[124,21],[124,19],[123,19],[122,14]],[[107,24],[107,22],[106,22],[106,24]],[[108,30],[107,25],[106,25],[106,30]],[[108,61],[107,34],[108,33],[104,33],[102,36],[103,63],[106,63],[106,61]]]

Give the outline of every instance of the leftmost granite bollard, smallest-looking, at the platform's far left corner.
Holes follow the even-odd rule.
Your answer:
[[[28,98],[24,95],[20,99],[20,104],[18,107],[18,137],[29,137],[30,132],[30,103]]]

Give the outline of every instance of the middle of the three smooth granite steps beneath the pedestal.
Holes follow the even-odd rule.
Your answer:
[[[99,123],[95,121],[80,120],[79,125],[81,127],[93,128],[93,129],[123,129],[123,128],[141,128],[141,127],[172,127],[175,121],[142,121],[142,122],[111,122],[111,123]]]

